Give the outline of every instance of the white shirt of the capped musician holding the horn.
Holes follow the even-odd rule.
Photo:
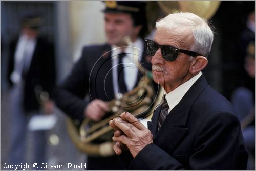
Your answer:
[[[118,68],[118,54],[125,53],[123,57],[124,66],[124,81],[126,84],[127,91],[131,91],[136,85],[138,78],[138,66],[140,65],[141,56],[144,49],[144,43],[141,38],[138,38],[131,46],[126,47],[124,50],[117,46],[111,46],[111,60],[112,60],[112,76],[115,97],[119,98],[117,86],[117,68]]]

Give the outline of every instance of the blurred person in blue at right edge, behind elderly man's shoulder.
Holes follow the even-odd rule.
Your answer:
[[[244,69],[247,79],[234,90],[231,102],[241,121],[243,137],[249,153],[247,169],[255,169],[255,41],[248,44]],[[249,78],[249,79],[248,79]]]

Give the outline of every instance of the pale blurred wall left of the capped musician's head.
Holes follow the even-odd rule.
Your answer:
[[[103,7],[101,1],[56,2],[55,36],[59,81],[70,72],[84,45],[105,41],[101,13]]]

